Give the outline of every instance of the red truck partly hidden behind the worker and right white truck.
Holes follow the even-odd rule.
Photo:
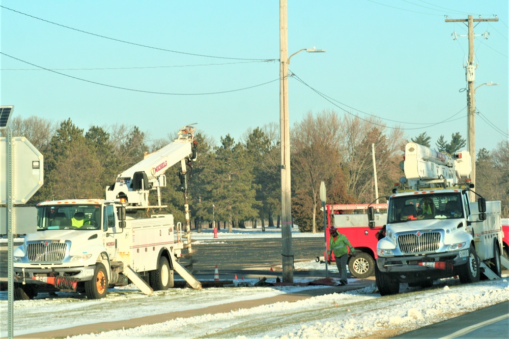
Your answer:
[[[372,206],[375,213],[375,228],[369,228],[367,207]],[[329,228],[334,226],[341,234],[345,234],[355,248],[356,255],[349,255],[348,270],[355,278],[367,278],[375,272],[377,258],[378,234],[387,222],[387,204],[335,204],[325,205],[327,212],[327,229],[325,243],[327,251],[317,261],[334,261],[334,255],[328,257]]]

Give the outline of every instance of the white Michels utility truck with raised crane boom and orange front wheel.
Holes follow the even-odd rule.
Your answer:
[[[194,128],[179,131],[178,138],[119,175],[106,188],[106,200],[45,201],[37,207],[37,232],[27,234],[14,250],[14,298],[32,299],[38,292],[73,291],[89,299],[106,296],[110,286],[134,283],[146,294],[174,286],[174,270],[195,289],[197,281],[178,262],[188,243],[171,214],[152,214],[160,208],[164,172],[181,163],[187,234],[189,217],[187,179],[196,159]],[[149,191],[157,190],[159,205],[149,205]],[[147,210],[135,219],[129,212]],[[145,213],[144,213],[145,214]],[[177,228],[177,229],[176,229]]]

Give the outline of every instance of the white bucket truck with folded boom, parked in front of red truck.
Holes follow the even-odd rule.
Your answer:
[[[479,281],[482,274],[500,277],[500,201],[487,202],[472,191],[468,151],[449,156],[410,142],[404,172],[388,197],[377,244],[380,294],[399,293],[400,283],[429,287],[455,275],[462,283]],[[477,201],[470,202],[469,194]],[[368,214],[374,227],[374,208]]]

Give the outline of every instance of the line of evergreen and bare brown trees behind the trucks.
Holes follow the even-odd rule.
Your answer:
[[[44,185],[31,198],[35,205],[44,200],[104,198],[105,189],[117,174],[143,160],[177,137],[177,130],[162,139],[136,126],[116,124],[91,126],[87,131],[71,119],[60,123],[32,116],[13,117],[9,128],[24,136],[44,155]],[[5,131],[3,132],[5,134]],[[243,227],[262,221],[262,227],[279,227],[280,149],[279,126],[267,124],[247,130],[239,141],[230,134],[218,145],[211,136],[195,133],[198,157],[190,179],[192,227],[208,228],[212,221],[221,228]],[[430,146],[422,133],[411,139]],[[327,203],[374,202],[375,149],[379,202],[385,202],[394,182],[404,175],[400,168],[407,139],[403,130],[387,127],[376,117],[368,119],[334,111],[308,112],[291,130],[292,218],[303,232],[323,231],[319,188],[327,188]],[[450,142],[441,136],[436,149],[454,153],[464,147],[459,133]],[[494,150],[480,149],[477,155],[476,192],[488,200],[501,200],[503,215],[509,215],[509,142]],[[161,190],[163,213],[174,214],[185,224],[184,198],[178,168],[166,171],[167,187]],[[156,205],[156,197],[150,197]],[[145,213],[145,211],[144,211]]]

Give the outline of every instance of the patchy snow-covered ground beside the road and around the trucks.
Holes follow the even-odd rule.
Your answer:
[[[277,236],[277,232],[273,234]],[[220,233],[219,239],[227,236],[241,235]],[[200,238],[210,239],[211,233],[193,235],[196,241],[203,241]],[[295,268],[323,270],[324,266],[309,261],[296,263]],[[335,267],[329,266],[329,269],[333,272]],[[295,282],[303,281],[305,279]],[[242,281],[236,281],[237,284],[240,282]],[[246,280],[244,283],[246,282],[254,285],[257,280]],[[354,283],[355,280],[350,282]],[[320,287],[236,286],[201,291],[171,289],[146,296],[136,287],[127,286],[110,289],[107,297],[101,300],[88,300],[84,296],[71,293],[59,293],[57,297],[51,298],[47,294],[41,294],[35,300],[14,303],[14,334],[201,309],[225,302],[260,299],[316,288]],[[402,285],[401,290],[398,295],[381,297],[376,293],[373,284],[354,291],[302,301],[278,302],[222,314],[177,318],[154,325],[72,338],[352,338],[375,332],[382,333],[383,337],[383,330],[406,332],[509,300],[509,279],[504,275],[501,280],[469,285],[460,285],[458,280],[448,279],[438,281],[426,290],[409,288],[406,285]],[[0,335],[7,336],[7,292],[0,292],[0,315]],[[507,337],[508,332],[500,333],[500,337]]]

